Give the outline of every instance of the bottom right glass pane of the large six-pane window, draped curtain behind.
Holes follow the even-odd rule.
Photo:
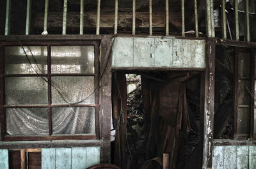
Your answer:
[[[52,108],[52,133],[95,133],[94,107]]]

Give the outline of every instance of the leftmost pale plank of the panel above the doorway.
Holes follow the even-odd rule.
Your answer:
[[[133,67],[133,41],[134,38],[115,38],[112,66]]]

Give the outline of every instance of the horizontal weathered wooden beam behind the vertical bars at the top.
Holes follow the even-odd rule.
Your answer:
[[[31,22],[32,27],[40,29],[44,26],[44,15],[43,13],[35,13],[33,22]],[[118,13],[118,27],[132,27],[131,13],[119,12]],[[166,25],[166,13],[165,12],[154,12],[152,16],[152,27],[165,27]],[[114,27],[115,26],[115,13],[102,12],[100,15],[100,27]],[[49,22],[50,28],[60,28],[62,27],[62,13],[49,13],[51,17],[51,22]],[[135,18],[134,18],[135,19]],[[169,22],[173,27],[181,27],[180,23],[180,13],[175,11],[169,12]],[[148,12],[137,12],[136,13],[136,27],[148,27]],[[68,13],[67,15],[67,27],[79,29],[80,25],[80,13]],[[97,26],[97,13],[95,12],[84,12],[84,27],[94,28]]]

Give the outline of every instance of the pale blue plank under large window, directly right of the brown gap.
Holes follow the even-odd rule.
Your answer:
[[[42,149],[42,169],[55,168],[55,149]]]

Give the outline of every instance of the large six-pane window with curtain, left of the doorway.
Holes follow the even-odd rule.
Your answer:
[[[1,47],[3,141],[99,138],[99,59],[93,41]]]

